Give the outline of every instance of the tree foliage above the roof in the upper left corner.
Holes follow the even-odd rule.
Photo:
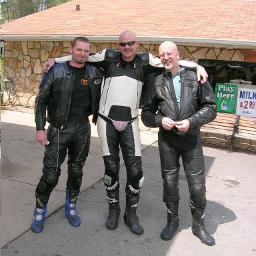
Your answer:
[[[1,23],[19,19],[71,0],[0,0]]]

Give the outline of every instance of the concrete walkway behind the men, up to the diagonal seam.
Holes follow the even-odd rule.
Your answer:
[[[44,147],[35,141],[33,109],[17,110],[29,113],[1,111],[1,205],[5,205],[1,208],[1,247],[29,229],[35,207],[35,187],[43,167]],[[156,133],[141,132],[143,148],[156,140]],[[81,191],[100,181],[103,170],[97,126],[91,123],[91,148],[83,169]],[[66,181],[67,161],[62,165],[59,183],[51,194],[47,215],[65,203]],[[18,219],[13,225],[13,221]]]

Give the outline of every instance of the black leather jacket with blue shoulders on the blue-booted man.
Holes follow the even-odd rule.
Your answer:
[[[85,77],[89,79],[91,88],[91,109],[93,123],[97,121],[99,98],[103,71],[85,63]],[[69,107],[75,82],[75,75],[65,63],[54,65],[49,73],[43,76],[39,87],[39,95],[35,99],[35,123],[37,130],[44,130],[46,120],[57,128],[64,128],[69,117]],[[47,109],[47,119],[46,119]]]

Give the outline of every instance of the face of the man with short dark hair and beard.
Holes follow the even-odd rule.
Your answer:
[[[72,55],[70,65],[73,67],[83,67],[90,53],[90,44],[87,42],[76,41],[75,45],[69,48]]]

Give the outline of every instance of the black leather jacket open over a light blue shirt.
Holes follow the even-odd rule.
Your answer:
[[[163,129],[163,117],[169,117],[173,121],[188,119],[190,127],[187,133],[195,135],[199,133],[201,125],[215,119],[217,105],[213,89],[208,81],[203,85],[199,84],[195,72],[187,69],[181,70],[180,77],[180,109],[171,73],[164,72],[149,84],[142,109],[142,121],[147,127],[160,127],[160,131],[177,134],[179,132],[175,127],[170,131]]]

